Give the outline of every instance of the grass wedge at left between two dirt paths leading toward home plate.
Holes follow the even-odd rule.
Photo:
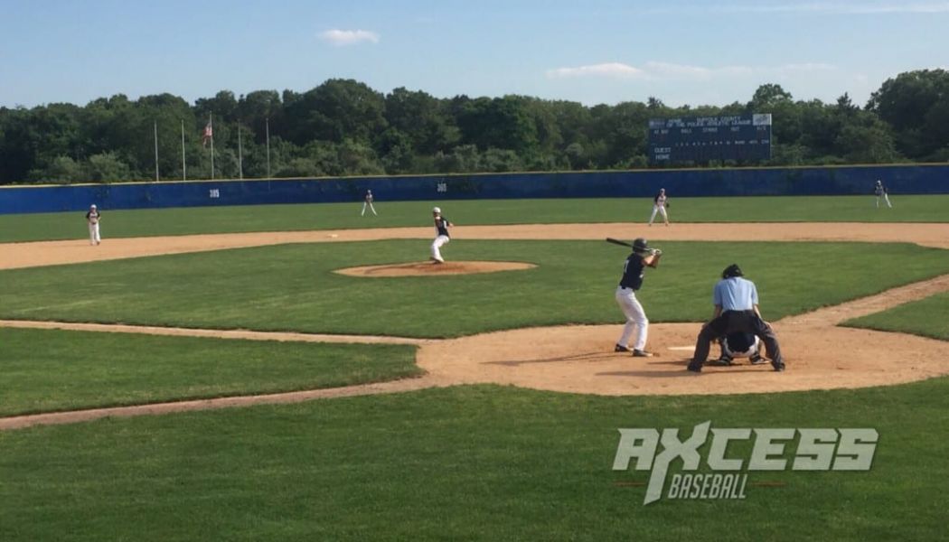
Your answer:
[[[335,387],[421,372],[415,346],[4,327],[0,345],[0,416]]]

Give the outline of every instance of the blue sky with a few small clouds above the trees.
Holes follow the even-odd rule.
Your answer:
[[[355,79],[438,98],[864,104],[949,68],[949,0],[0,0],[0,106]]]

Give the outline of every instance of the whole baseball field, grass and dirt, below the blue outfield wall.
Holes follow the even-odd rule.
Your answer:
[[[431,202],[103,209],[96,247],[82,214],[0,216],[0,540],[946,537],[949,196],[677,198],[669,227],[646,200],[438,205],[444,267]],[[653,358],[612,351],[607,236],[663,251]],[[685,371],[732,263],[785,372]],[[741,498],[644,505],[649,471],[613,470],[620,429],[705,421],[879,441]]]

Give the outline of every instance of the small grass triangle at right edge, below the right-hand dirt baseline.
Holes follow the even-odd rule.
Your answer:
[[[949,341],[949,292],[848,320],[844,324]]]

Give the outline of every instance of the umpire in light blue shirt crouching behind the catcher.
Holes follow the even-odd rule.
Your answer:
[[[737,264],[732,264],[721,272],[721,280],[715,285],[713,299],[715,317],[698,332],[696,353],[689,363],[688,370],[699,373],[709,356],[709,345],[717,337],[740,331],[754,333],[768,350],[775,371],[784,370],[781,347],[777,344],[774,331],[758,310],[758,290],[754,282],[742,277]]]

